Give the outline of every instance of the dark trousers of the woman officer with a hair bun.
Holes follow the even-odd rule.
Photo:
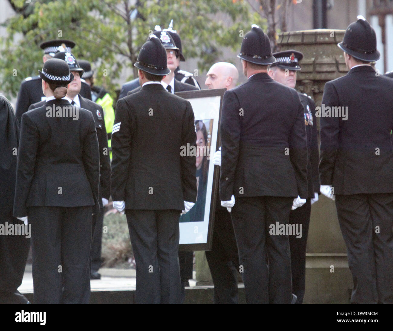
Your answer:
[[[35,304],[88,304],[92,206],[28,207]]]

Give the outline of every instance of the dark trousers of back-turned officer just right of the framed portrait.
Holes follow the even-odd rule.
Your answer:
[[[290,304],[288,235],[270,235],[270,225],[288,224],[293,198],[236,198],[231,217],[248,304]]]

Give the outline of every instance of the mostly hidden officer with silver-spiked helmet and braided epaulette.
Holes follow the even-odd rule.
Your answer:
[[[169,24],[168,29],[164,29],[163,31],[169,33],[171,35],[175,47],[178,49],[178,57],[176,57],[176,69],[174,70],[174,78],[181,83],[189,84],[192,86],[195,86],[197,89],[200,89],[200,86],[198,82],[195,80],[193,77],[192,73],[189,73],[188,71],[180,70],[179,64],[180,61],[185,61],[184,55],[182,53],[182,41],[180,40],[180,36],[176,33],[175,30],[172,29],[173,25],[173,20],[171,20],[171,24]],[[156,25],[154,28],[154,32],[158,36],[158,32],[161,31],[160,25]],[[139,85],[139,78],[135,78],[131,80],[130,82],[125,83],[121,87],[121,91],[119,94],[119,99],[125,97],[130,91],[136,89]],[[184,85],[183,85],[184,86]],[[185,90],[188,91],[188,90]],[[179,92],[179,91],[176,91]]]

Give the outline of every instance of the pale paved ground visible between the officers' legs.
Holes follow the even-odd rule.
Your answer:
[[[135,270],[134,269],[99,269],[101,279],[91,280],[92,291],[126,291],[135,289]],[[195,278],[195,271],[193,272]],[[190,286],[195,286],[196,282],[190,280]],[[33,275],[31,264],[26,265],[22,285],[18,288],[20,293],[33,293]]]

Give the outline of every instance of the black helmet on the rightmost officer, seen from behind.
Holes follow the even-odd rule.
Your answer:
[[[374,62],[380,58],[376,49],[375,31],[362,15],[357,18],[356,22],[349,24],[343,41],[337,45],[358,60]]]

